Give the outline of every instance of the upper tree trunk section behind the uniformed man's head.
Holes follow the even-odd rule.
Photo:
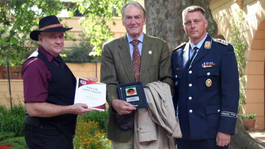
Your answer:
[[[146,9],[146,33],[167,41],[170,51],[187,42],[182,26],[182,11],[190,5],[202,6],[208,20],[208,33],[217,36],[217,24],[213,20],[209,0],[144,0]]]

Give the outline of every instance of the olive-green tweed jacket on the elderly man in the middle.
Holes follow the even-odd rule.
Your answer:
[[[101,54],[102,83],[107,84],[106,100],[109,106],[107,118],[107,138],[113,141],[127,142],[131,139],[134,128],[120,128],[116,119],[116,111],[111,107],[113,99],[119,99],[117,85],[135,82],[134,69],[126,34],[105,43]],[[140,78],[143,85],[155,81],[168,83],[173,94],[171,78],[171,56],[166,41],[144,34]]]

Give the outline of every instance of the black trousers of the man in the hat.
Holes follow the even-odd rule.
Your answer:
[[[30,149],[73,149],[73,136],[66,137],[53,125],[25,124],[25,140]]]

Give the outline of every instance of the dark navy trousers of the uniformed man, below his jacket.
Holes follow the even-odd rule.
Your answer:
[[[216,139],[176,140],[178,149],[228,149],[228,145],[224,147],[217,146]]]

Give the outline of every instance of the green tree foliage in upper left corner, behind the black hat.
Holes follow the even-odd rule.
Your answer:
[[[52,5],[51,5],[52,3]],[[21,63],[30,51],[29,32],[38,28],[38,17],[58,14],[64,9],[60,1],[6,0],[0,5],[0,64]]]

